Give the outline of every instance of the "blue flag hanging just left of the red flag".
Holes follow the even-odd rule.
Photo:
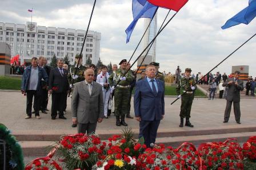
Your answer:
[[[139,18],[152,19],[157,8],[157,6],[152,5],[146,0],[133,0],[133,22],[131,22],[131,24],[125,30],[127,34],[126,43],[129,42],[131,33],[133,32]]]

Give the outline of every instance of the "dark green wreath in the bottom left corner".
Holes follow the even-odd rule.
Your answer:
[[[0,169],[5,164],[5,169],[23,170],[23,154],[17,139],[11,135],[10,130],[0,123]],[[3,155],[5,152],[5,155]],[[5,157],[5,160],[4,160]]]

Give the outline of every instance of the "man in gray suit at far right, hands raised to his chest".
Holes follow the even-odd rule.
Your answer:
[[[232,102],[234,102],[234,114],[235,114],[235,121],[238,124],[241,124],[240,117],[240,91],[243,90],[243,81],[238,80],[240,75],[239,71],[235,71],[235,75],[233,78],[229,78],[226,82],[222,84],[223,87],[227,86],[227,104],[225,109],[224,121],[223,123],[227,123],[229,121],[230,111]]]

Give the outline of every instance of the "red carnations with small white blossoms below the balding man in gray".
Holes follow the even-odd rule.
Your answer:
[[[62,136],[54,149],[59,151],[58,157],[65,162],[67,169],[91,169],[98,159],[106,157],[106,142],[101,142],[94,134]]]

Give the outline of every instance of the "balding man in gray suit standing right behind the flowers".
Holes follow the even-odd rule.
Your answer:
[[[102,86],[94,82],[93,69],[86,69],[85,81],[74,84],[71,100],[73,124],[78,123],[78,133],[91,134],[101,123],[104,113]]]

